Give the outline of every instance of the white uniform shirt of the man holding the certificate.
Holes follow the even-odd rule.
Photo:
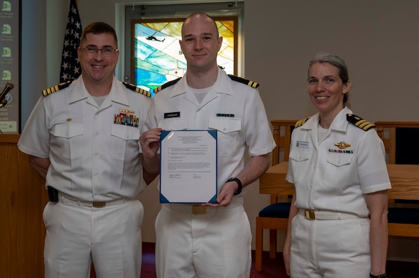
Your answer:
[[[247,145],[250,156],[265,155],[275,147],[265,107],[255,88],[233,82],[221,69],[202,102],[199,103],[186,88],[185,75],[175,85],[156,93],[145,130],[157,126],[163,130],[218,130],[218,185],[221,190],[228,178],[244,168]],[[179,112],[177,117],[164,116],[176,112]]]

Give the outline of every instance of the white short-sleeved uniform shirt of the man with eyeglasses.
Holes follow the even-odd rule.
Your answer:
[[[114,77],[98,107],[80,76],[67,88],[41,96],[17,146],[49,157],[45,186],[76,200],[136,199],[145,189],[138,139],[150,102]],[[124,110],[138,118],[137,126],[114,123]]]

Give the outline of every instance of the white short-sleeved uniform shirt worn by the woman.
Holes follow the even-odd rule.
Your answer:
[[[323,141],[318,141],[318,114],[293,131],[286,180],[295,185],[297,208],[367,217],[362,194],[390,189],[376,130],[358,128],[346,114],[352,114],[348,107],[337,114]]]

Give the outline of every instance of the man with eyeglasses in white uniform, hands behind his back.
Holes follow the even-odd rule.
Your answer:
[[[80,40],[82,75],[43,91],[18,142],[45,178],[45,277],[140,277],[143,207],[140,132],[150,93],[114,76],[112,26],[94,22]]]

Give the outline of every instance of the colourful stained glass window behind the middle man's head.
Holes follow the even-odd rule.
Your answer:
[[[214,20],[223,37],[217,63],[228,74],[237,74],[237,17],[214,17]],[[132,20],[131,83],[152,91],[184,75],[186,60],[179,45],[183,21]]]

